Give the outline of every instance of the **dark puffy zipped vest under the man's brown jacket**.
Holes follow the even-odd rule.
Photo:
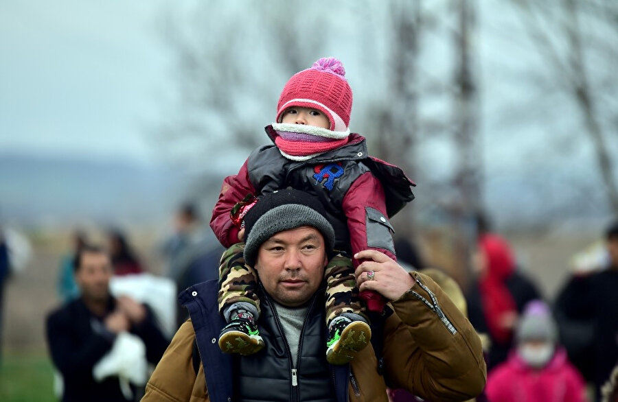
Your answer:
[[[327,331],[323,289],[311,301],[301,331],[297,367],[293,368],[290,348],[283,335],[277,310],[264,294],[258,320],[265,347],[255,355],[239,357],[234,400],[251,402],[335,402],[333,369],[326,362]],[[293,370],[295,369],[295,373]]]

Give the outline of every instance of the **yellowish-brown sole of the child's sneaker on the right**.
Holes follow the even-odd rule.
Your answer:
[[[352,321],[341,331],[338,340],[335,340],[326,351],[326,360],[330,364],[350,363],[356,353],[362,351],[371,341],[371,328],[367,322]]]

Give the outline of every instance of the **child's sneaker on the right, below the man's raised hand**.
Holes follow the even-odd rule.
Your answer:
[[[370,340],[371,328],[367,322],[339,316],[329,325],[326,360],[330,364],[349,363]]]

